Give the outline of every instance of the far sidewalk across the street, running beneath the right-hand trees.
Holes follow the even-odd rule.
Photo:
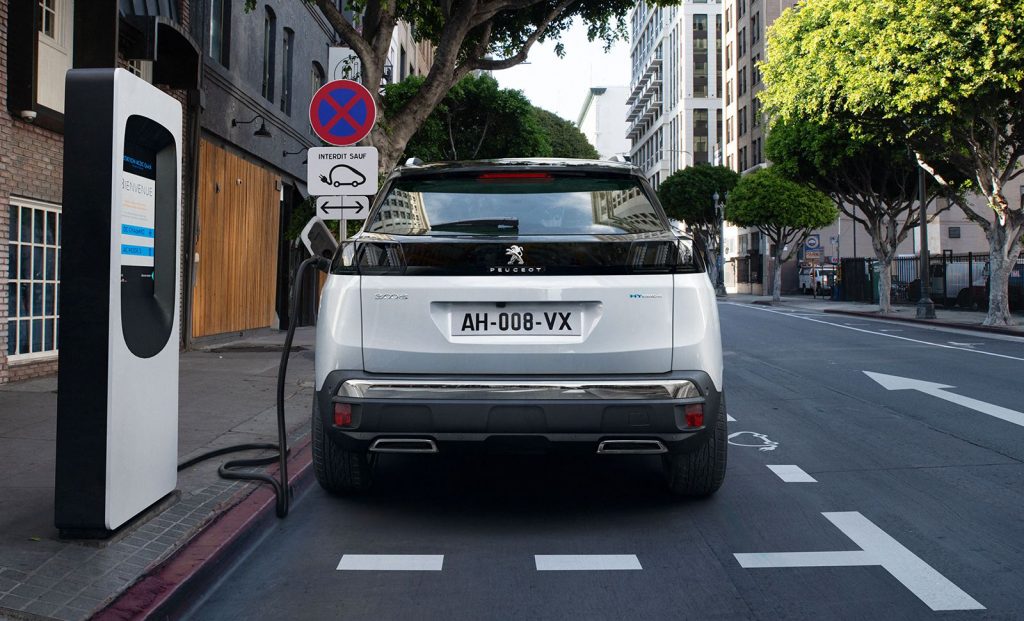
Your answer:
[[[814,310],[817,313],[834,313],[838,315],[851,315],[870,319],[887,321],[912,322],[920,325],[939,326],[943,328],[957,328],[962,330],[973,330],[987,332],[989,334],[1009,334],[1013,336],[1024,336],[1024,313],[1014,313],[1014,318],[1018,325],[1010,328],[990,328],[982,326],[985,321],[983,310],[963,310],[961,308],[946,308],[941,304],[935,306],[935,319],[918,319],[918,308],[913,304],[899,304],[893,306],[893,313],[882,314],[878,304],[866,302],[843,302],[831,299],[812,297],[810,295],[794,294],[783,295],[782,301],[773,304],[770,295],[751,295],[749,293],[730,293],[719,301],[729,301],[740,304],[765,304],[787,308],[801,308],[803,310]]]

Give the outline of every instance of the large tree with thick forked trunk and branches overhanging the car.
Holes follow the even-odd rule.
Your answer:
[[[575,18],[587,25],[591,40],[606,45],[627,35],[626,16],[636,0],[349,0],[361,14],[358,28],[338,10],[337,0],[295,0],[315,4],[341,41],[359,57],[360,79],[383,110],[378,86],[384,75],[395,25],[406,22],[418,40],[435,46],[433,65],[421,88],[403,106],[378,118],[369,143],[380,153],[380,165],[390,170],[413,134],[444,94],[476,70],[498,71],[526,59],[538,41],[557,40]],[[649,4],[679,4],[654,0]],[[252,10],[256,0],[246,0]],[[556,46],[561,53],[561,44]]]

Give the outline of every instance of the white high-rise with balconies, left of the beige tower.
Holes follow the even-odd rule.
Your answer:
[[[630,156],[657,188],[676,170],[715,163],[721,153],[722,4],[641,2],[630,27]]]

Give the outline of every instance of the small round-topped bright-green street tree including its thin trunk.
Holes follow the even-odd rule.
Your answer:
[[[762,168],[740,177],[729,193],[725,218],[740,226],[756,226],[768,240],[774,259],[772,301],[782,299],[782,263],[815,229],[836,221],[839,212],[817,190]]]

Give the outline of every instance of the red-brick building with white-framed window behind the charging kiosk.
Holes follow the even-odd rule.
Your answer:
[[[65,74],[120,67],[198,114],[200,51],[187,3],[0,0],[0,382],[56,371]],[[185,138],[186,142],[188,138]],[[182,205],[195,196],[184,156]]]

